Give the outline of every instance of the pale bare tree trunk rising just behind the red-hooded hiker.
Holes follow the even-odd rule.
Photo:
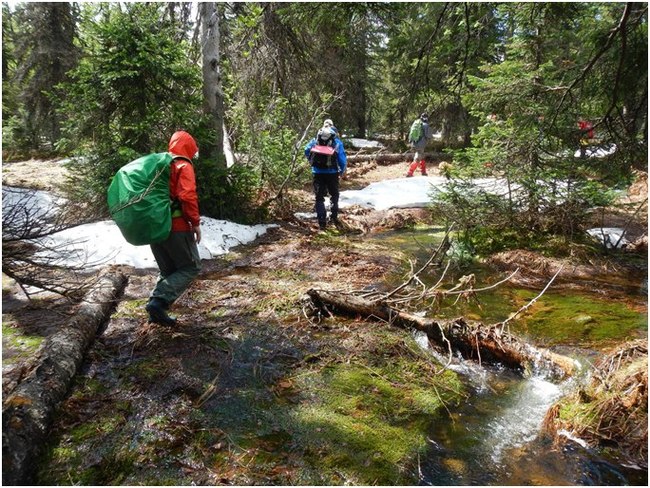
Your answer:
[[[201,148],[206,156],[226,166],[223,154],[223,90],[221,87],[220,4],[201,2],[201,53],[203,55],[203,104],[210,117],[211,139],[203,141]],[[223,4],[221,4],[223,5]]]

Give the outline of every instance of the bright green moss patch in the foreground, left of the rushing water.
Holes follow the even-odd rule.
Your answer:
[[[405,363],[340,364],[306,380],[304,387],[319,400],[299,406],[291,425],[300,426],[297,436],[319,468],[330,476],[343,471],[355,484],[416,481],[406,468],[425,450],[427,427],[442,400],[435,385],[405,375]],[[450,379],[456,381],[454,375],[444,381]]]

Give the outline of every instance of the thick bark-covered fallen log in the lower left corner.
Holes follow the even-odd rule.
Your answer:
[[[28,485],[52,416],[65,398],[83,356],[123,292],[126,276],[103,271],[75,315],[48,337],[36,365],[2,406],[2,484]]]

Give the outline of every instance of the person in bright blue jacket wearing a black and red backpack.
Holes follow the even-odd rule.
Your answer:
[[[329,119],[328,119],[329,121]],[[331,122],[331,121],[329,121]],[[338,225],[339,178],[345,174],[348,158],[343,142],[337,137],[333,124],[323,125],[318,134],[305,147],[305,156],[311,164],[316,195],[316,217],[321,230],[327,226],[325,195],[330,195],[330,219]]]

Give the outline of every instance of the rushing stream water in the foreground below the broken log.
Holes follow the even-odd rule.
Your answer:
[[[558,447],[538,438],[548,409],[577,380],[522,378],[458,358],[451,368],[466,378],[471,395],[432,428],[429,455],[420,463],[421,484],[647,485],[646,470],[606,459],[580,439]]]

